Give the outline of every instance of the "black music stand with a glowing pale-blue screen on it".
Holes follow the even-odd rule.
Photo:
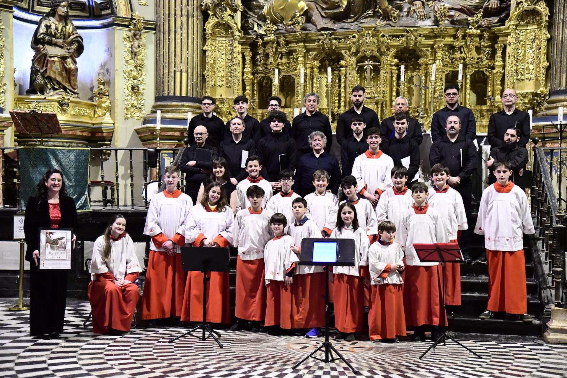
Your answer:
[[[299,265],[318,265],[325,267],[325,341],[321,343],[310,354],[293,366],[297,369],[299,365],[308,358],[314,358],[321,362],[334,362],[342,360],[355,374],[358,371],[333,347],[329,341],[329,267],[354,266],[354,239],[311,239],[301,241],[301,255]],[[318,351],[325,351],[325,359],[315,357]],[[333,357],[335,352],[337,357]],[[331,358],[329,358],[329,355]]]

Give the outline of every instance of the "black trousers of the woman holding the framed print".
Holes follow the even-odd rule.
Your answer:
[[[67,302],[67,272],[29,269],[29,333],[62,333]]]

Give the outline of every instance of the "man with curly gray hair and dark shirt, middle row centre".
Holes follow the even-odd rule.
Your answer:
[[[313,192],[313,173],[318,169],[324,169],[329,173],[331,177],[329,177],[328,190],[335,195],[338,193],[338,186],[341,184],[341,168],[337,158],[325,151],[327,140],[327,136],[321,131],[313,131],[309,134],[308,143],[311,146],[311,152],[299,159],[297,171],[295,171],[293,190],[299,196],[305,197]]]

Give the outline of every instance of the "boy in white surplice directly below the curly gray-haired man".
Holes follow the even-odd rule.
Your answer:
[[[323,169],[315,171],[313,173],[313,185],[315,186],[315,192],[305,196],[307,208],[311,214],[311,219],[319,227],[322,237],[328,237],[331,235],[333,228],[335,228],[338,198],[335,194],[327,192],[327,186],[329,185],[329,174],[327,171],[323,171]]]

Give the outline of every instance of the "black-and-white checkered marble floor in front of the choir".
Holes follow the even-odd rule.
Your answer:
[[[90,305],[67,301],[61,339],[29,336],[28,311],[7,311],[14,300],[0,299],[0,377],[334,377],[354,376],[344,363],[308,359],[291,368],[323,340],[221,331],[220,349],[185,337],[184,328],[134,329],[122,336],[96,336],[83,328]],[[520,342],[462,341],[480,354],[447,343],[422,360],[430,343],[383,344],[368,339],[333,345],[369,377],[567,377],[567,346]],[[323,356],[322,354],[320,355]]]

